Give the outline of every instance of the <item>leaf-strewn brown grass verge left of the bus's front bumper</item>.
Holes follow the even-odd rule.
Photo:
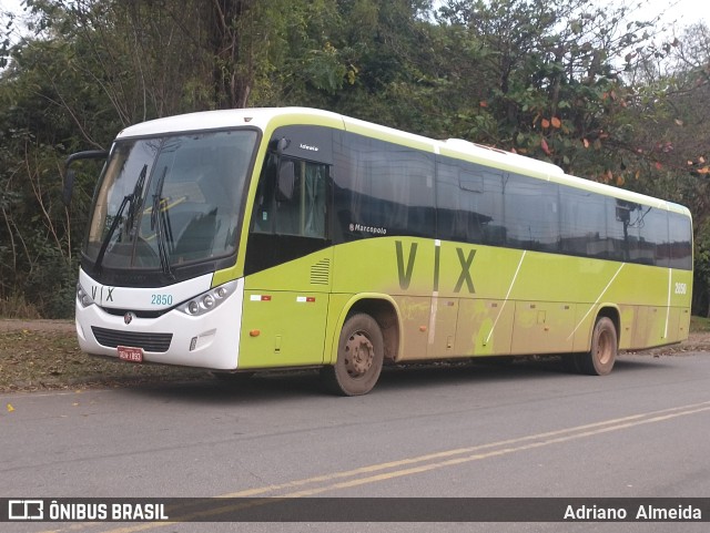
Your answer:
[[[123,386],[206,377],[204,370],[131,365],[83,353],[74,331],[0,331],[0,392]]]

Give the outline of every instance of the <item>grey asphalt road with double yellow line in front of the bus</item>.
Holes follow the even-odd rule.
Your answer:
[[[386,370],[0,397],[0,498],[704,498],[710,357]],[[368,501],[369,502],[369,501]],[[520,504],[526,504],[520,501]],[[0,523],[0,532],[708,531],[708,523]],[[707,521],[709,516],[703,516]],[[201,520],[201,519],[197,519]]]

